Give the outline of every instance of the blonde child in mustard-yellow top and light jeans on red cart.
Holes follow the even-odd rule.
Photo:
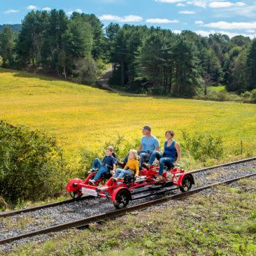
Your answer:
[[[127,164],[125,164],[124,169],[116,169],[113,171],[114,174],[113,180],[118,181],[118,179],[122,178],[123,176],[132,176],[136,173],[136,177],[138,177],[138,154],[137,150],[130,150],[129,151],[129,159]]]

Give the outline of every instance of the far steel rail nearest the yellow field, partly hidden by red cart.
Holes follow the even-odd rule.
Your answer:
[[[225,166],[229,166],[229,165],[233,165],[233,164],[240,164],[240,163],[243,163],[243,162],[250,162],[250,161],[253,161],[253,160],[256,160],[256,157],[251,157],[251,158],[237,160],[237,161],[234,161],[234,162],[228,162],[228,163],[225,163],[225,164],[218,164],[218,165],[215,165],[215,166],[196,169],[194,171],[190,171],[190,173],[199,173],[200,171],[208,171],[208,170],[212,170],[212,169],[216,169],[216,168],[220,168],[220,167],[225,167]],[[64,200],[64,201],[57,201],[55,203],[43,204],[41,206],[34,206],[34,207],[30,207],[30,208],[24,208],[24,209],[18,210],[18,211],[8,211],[6,213],[0,213],[0,218],[10,217],[10,216],[17,215],[17,214],[20,214],[20,213],[29,213],[29,212],[32,212],[32,211],[38,211],[38,210],[41,210],[43,208],[50,208],[50,207],[60,206],[62,204],[70,204],[74,201],[85,200],[87,198],[88,197],[81,197],[80,199],[67,199],[67,200]]]

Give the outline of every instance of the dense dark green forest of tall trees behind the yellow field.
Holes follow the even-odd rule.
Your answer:
[[[94,14],[67,16],[64,10],[31,11],[20,31],[0,32],[3,68],[94,83],[111,63],[113,87],[173,97],[207,97],[208,87],[225,86],[256,101],[256,39],[175,34],[160,27],[111,23]]]

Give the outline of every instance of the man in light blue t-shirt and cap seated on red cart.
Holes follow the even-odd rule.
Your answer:
[[[142,134],[143,137],[141,138],[141,145],[138,148],[140,167],[143,162],[148,162],[154,150],[159,151],[159,141],[155,136],[151,135],[151,128],[149,125],[145,125],[142,128]]]

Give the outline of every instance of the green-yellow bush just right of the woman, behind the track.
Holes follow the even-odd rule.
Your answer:
[[[207,159],[220,159],[223,155],[223,143],[220,136],[195,134],[194,136],[182,131],[181,148],[185,155],[206,162]]]

